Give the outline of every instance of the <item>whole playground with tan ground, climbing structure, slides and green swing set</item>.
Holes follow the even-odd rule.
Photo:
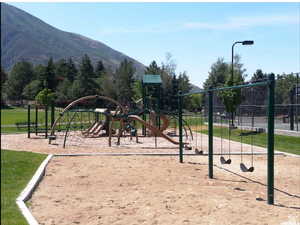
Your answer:
[[[3,149],[54,154],[29,200],[40,224],[300,223],[299,157],[274,150],[274,77],[205,90],[198,112],[183,112],[187,96],[179,93],[172,113],[161,108],[158,77],[147,79],[140,106],[85,96],[55,120],[54,110],[50,122],[46,112],[41,130],[28,107],[27,134],[1,137]],[[239,108],[235,120],[226,107],[214,108],[214,92],[256,86],[270,93],[265,130],[251,107]],[[91,101],[106,107],[83,107]],[[239,141],[231,137],[237,131]],[[265,147],[254,145],[261,132]]]

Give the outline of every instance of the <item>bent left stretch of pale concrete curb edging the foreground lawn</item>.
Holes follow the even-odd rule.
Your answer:
[[[26,185],[24,190],[21,192],[21,194],[16,199],[16,203],[21,210],[23,216],[27,220],[29,225],[39,225],[39,223],[36,221],[36,219],[33,217],[29,209],[27,208],[25,202],[30,199],[33,191],[39,184],[39,182],[43,179],[45,174],[46,166],[48,165],[49,161],[52,159],[53,155],[48,155],[48,157],[41,163],[29,183]]]

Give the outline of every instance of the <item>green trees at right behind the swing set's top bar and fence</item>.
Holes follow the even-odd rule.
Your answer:
[[[224,87],[232,86],[246,83],[255,83],[259,81],[264,81],[268,79],[271,73],[264,73],[261,69],[257,69],[251,77],[248,78],[246,70],[241,63],[241,58],[239,55],[234,57],[233,64],[233,80],[232,76],[232,65],[227,63],[223,58],[218,58],[215,63],[212,64],[210,71],[208,73],[208,78],[203,84],[204,89],[209,87]],[[248,79],[247,79],[248,78]],[[276,86],[275,86],[275,104],[290,104],[290,92],[295,88],[297,83],[296,74],[277,74],[275,76]],[[299,81],[300,82],[300,81]],[[230,106],[237,106],[243,102],[244,105],[266,105],[267,104],[267,88],[265,87],[254,87],[244,89],[242,91],[236,90],[220,92],[215,96],[215,104],[221,105],[226,104]],[[229,97],[228,97],[229,96]],[[235,96],[236,101],[230,98],[230,96]],[[230,112],[233,109],[229,109]],[[233,110],[234,111],[234,110]]]

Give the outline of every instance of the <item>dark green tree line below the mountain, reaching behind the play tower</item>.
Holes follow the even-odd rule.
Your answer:
[[[179,90],[191,89],[187,74],[176,75],[175,68],[170,57],[161,66],[153,61],[145,68],[145,74],[161,75],[163,106],[169,109],[177,106]],[[43,100],[51,94],[55,104],[62,107],[87,95],[108,96],[130,106],[142,96],[141,75],[136,74],[133,63],[127,59],[116,70],[106,68],[102,61],[93,65],[88,55],[82,57],[78,66],[72,58],[57,62],[50,58],[46,65],[36,66],[21,61],[8,74],[1,69],[1,105],[6,100]]]

